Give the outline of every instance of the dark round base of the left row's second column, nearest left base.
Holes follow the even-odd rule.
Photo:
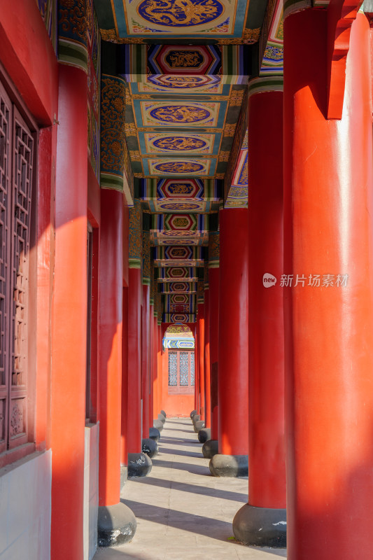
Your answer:
[[[97,545],[118,547],[134,538],[136,517],[124,503],[100,505],[97,519]]]

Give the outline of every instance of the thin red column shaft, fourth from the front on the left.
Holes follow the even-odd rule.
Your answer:
[[[149,405],[150,405],[150,286],[144,285],[143,290],[143,308],[141,314],[142,321],[142,348],[141,348],[141,363],[142,363],[142,397],[143,397],[143,430],[142,435],[144,437],[149,437]],[[152,421],[153,426],[153,421]]]

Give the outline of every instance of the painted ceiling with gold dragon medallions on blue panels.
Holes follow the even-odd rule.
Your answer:
[[[247,207],[248,82],[281,76],[283,1],[94,4],[103,71],[126,84],[127,163],[150,214],[162,321],[192,322],[218,211]]]

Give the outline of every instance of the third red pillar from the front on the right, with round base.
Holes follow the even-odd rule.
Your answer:
[[[218,450],[216,476],[247,476],[248,212],[220,211]]]

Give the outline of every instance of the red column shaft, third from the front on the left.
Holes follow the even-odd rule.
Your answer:
[[[141,453],[141,269],[128,269],[128,452]]]

